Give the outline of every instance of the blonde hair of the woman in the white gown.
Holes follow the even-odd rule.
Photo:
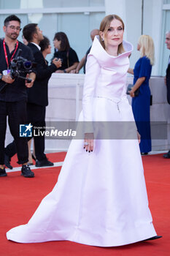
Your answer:
[[[99,29],[101,32],[104,32],[104,37],[107,34],[107,31],[109,29],[109,26],[110,26],[110,23],[112,22],[112,20],[120,20],[120,22],[122,23],[122,26],[123,26],[123,31],[125,29],[123,20],[118,15],[115,15],[115,14],[107,15],[106,17],[103,18],[103,20],[101,20],[101,25],[100,25],[100,29]],[[101,45],[105,49],[104,41],[102,41],[100,35],[99,35],[99,40],[101,42]],[[120,45],[118,46],[117,54],[124,53],[124,52],[125,52],[125,49],[123,48],[123,43],[121,42]]]

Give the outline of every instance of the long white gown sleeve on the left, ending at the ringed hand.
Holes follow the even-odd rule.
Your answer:
[[[85,121],[85,132],[93,132],[93,97],[97,86],[97,79],[100,73],[100,65],[92,55],[88,56],[85,67],[85,81],[82,97],[82,114]]]

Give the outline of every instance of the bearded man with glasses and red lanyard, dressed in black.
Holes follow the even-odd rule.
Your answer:
[[[18,164],[22,165],[21,175],[26,178],[34,177],[28,167],[27,138],[20,138],[20,124],[26,124],[26,89],[33,86],[36,75],[31,72],[27,75],[31,83],[20,78],[13,79],[10,74],[12,59],[21,49],[24,59],[34,61],[31,49],[18,41],[20,34],[20,19],[10,15],[4,20],[4,39],[0,40],[0,177],[7,176],[4,168],[4,141],[7,129],[7,116],[10,132],[15,139],[18,152]]]

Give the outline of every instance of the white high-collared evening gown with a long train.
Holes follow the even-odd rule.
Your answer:
[[[110,56],[94,39],[80,120],[134,121],[125,94],[132,45],[123,41],[123,46],[125,53]],[[137,139],[95,140],[90,154],[83,140],[72,140],[53,191],[28,224],[7,232],[7,239],[20,243],[68,240],[93,246],[120,246],[152,236],[156,233]]]

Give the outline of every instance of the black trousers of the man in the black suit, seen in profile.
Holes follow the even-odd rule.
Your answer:
[[[27,103],[27,123],[31,123],[34,127],[45,127],[45,106],[36,105],[33,103]],[[43,130],[42,128],[41,130]],[[30,140],[28,138],[27,140]],[[42,161],[47,159],[45,155],[45,136],[34,137],[35,155],[36,159]],[[17,153],[17,146],[15,140],[5,148],[5,153],[9,157],[13,157]]]

